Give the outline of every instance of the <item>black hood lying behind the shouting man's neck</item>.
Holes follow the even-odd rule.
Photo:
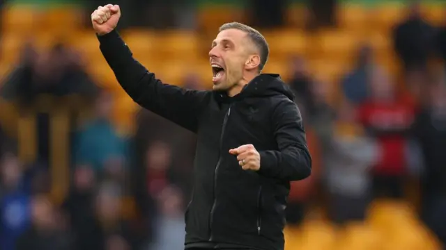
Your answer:
[[[226,93],[217,92],[217,99],[226,101],[228,99],[243,99],[246,97],[272,97],[275,95],[284,95],[291,101],[294,101],[294,94],[289,85],[282,81],[279,74],[260,74],[252,79],[240,94],[230,98]]]

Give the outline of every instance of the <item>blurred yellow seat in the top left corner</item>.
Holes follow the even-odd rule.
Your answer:
[[[41,13],[30,6],[6,6],[1,11],[3,33],[29,35],[41,24]]]

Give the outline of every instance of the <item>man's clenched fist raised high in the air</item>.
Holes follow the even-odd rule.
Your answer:
[[[116,28],[120,17],[121,10],[119,9],[119,6],[107,4],[106,6],[99,6],[98,9],[91,14],[91,23],[98,35],[105,35]]]

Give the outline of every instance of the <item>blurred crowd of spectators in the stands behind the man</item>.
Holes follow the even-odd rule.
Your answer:
[[[305,58],[291,55],[286,80],[314,163],[310,178],[291,185],[289,225],[322,208],[341,226],[362,221],[374,199],[407,200],[446,243],[446,70],[438,67],[446,59],[446,26],[424,21],[416,3],[408,13],[392,34],[397,76],[377,63],[369,44],[358,44],[355,67],[330,83],[339,88],[332,97]],[[45,108],[36,115],[32,161],[20,160],[17,138],[0,126],[0,249],[183,249],[194,135],[146,110],[134,117],[134,134],[122,135],[112,122],[113,94],[86,74],[81,54],[64,44],[38,53],[30,42],[21,56],[1,97],[20,113],[68,107],[70,185],[54,201],[49,165],[57,138]],[[183,86],[210,87],[193,72]]]

